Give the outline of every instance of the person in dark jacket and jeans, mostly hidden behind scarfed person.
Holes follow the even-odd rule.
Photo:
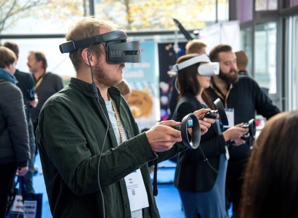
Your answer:
[[[16,43],[5,42],[3,46],[10,49],[16,55],[16,58],[18,60],[19,47]],[[16,69],[14,76],[18,81],[16,85],[17,87],[20,88],[23,94],[24,107],[25,107],[26,118],[28,123],[28,131],[29,131],[29,145],[30,145],[31,159],[28,165],[29,170],[24,176],[24,185],[26,187],[27,193],[34,193],[35,191],[33,188],[33,173],[34,173],[36,143],[35,143],[35,136],[34,136],[35,134],[33,130],[30,111],[32,108],[36,108],[38,99],[35,96],[34,81],[30,73],[21,72],[18,69]]]

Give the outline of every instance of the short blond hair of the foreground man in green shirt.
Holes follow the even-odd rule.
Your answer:
[[[65,38],[67,41],[77,41],[85,38],[89,38],[95,35],[101,34],[101,29],[119,29],[120,26],[112,21],[98,20],[92,17],[84,17],[77,21],[70,31],[66,34]],[[87,48],[87,47],[86,47]],[[78,49],[77,51],[70,53],[70,58],[74,64],[74,69],[77,71],[81,63],[81,52],[85,48]],[[96,55],[100,55],[100,44],[91,47],[91,50]]]

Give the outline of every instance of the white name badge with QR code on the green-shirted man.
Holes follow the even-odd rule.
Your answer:
[[[149,207],[147,191],[140,169],[125,176],[125,183],[131,211]]]

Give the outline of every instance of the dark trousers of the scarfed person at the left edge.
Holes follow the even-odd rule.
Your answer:
[[[15,177],[16,169],[16,163],[0,164],[0,172],[2,174],[0,179],[0,218],[5,216],[7,196],[12,188],[12,181]]]

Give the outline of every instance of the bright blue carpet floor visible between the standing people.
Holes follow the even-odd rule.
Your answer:
[[[38,170],[41,170],[41,163],[39,155],[36,157],[35,164]],[[158,182],[167,183],[173,182],[174,168],[162,168],[163,166],[175,166],[172,162],[160,163],[157,173]],[[37,174],[33,177],[33,185],[36,193],[43,193],[43,207],[42,218],[52,218],[46,187],[42,174]],[[184,218],[183,211],[181,210],[181,200],[179,193],[173,184],[160,184],[158,185],[158,195],[155,198],[161,218]]]

